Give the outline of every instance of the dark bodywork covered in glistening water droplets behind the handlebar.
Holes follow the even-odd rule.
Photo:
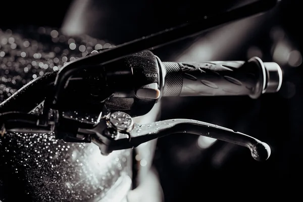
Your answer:
[[[44,27],[0,30],[0,101],[45,72],[108,46],[102,40],[71,38]],[[90,117],[89,121],[93,122]],[[93,143],[65,143],[54,137],[53,133],[0,137],[1,201],[99,201],[118,179],[129,179],[130,150],[104,157]]]

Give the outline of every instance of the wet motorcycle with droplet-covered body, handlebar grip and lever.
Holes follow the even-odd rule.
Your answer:
[[[265,12],[276,3],[260,1],[218,16],[204,16],[197,22],[116,47],[96,48],[84,57],[70,55],[70,62],[69,52],[57,45],[48,47],[53,48],[53,55],[42,56],[35,53],[39,49],[37,41],[31,41],[30,46],[28,40],[12,42],[9,37],[6,44],[11,48],[10,58],[2,61],[6,63],[3,67],[12,65],[18,55],[12,44],[20,43],[31,48],[31,52],[21,52],[20,57],[29,54],[35,60],[41,59],[39,63],[29,59],[18,61],[30,65],[24,68],[25,72],[32,67],[51,67],[53,71],[40,71],[40,77],[34,74],[34,80],[16,92],[8,88],[7,93],[13,94],[0,105],[0,166],[4,173],[0,187],[5,190],[0,199],[126,201],[128,192],[136,187],[132,148],[174,133],[203,135],[245,146],[255,160],[267,160],[271,153],[268,144],[228,128],[190,119],[144,124],[135,120],[149,113],[165,96],[258,98],[263,93],[279,91],[281,68],[257,57],[248,61],[162,62],[150,51]],[[58,32],[40,31],[40,38],[48,34],[53,42],[61,40]],[[79,39],[85,40],[88,39]],[[70,49],[75,43],[74,39],[69,41]],[[0,54],[4,57],[6,53]],[[60,54],[59,60],[56,56]],[[33,68],[34,73],[38,73],[37,68]],[[8,82],[26,82],[19,77],[15,75]],[[7,175],[12,172],[13,175]],[[16,181],[20,183],[17,185]],[[10,192],[21,187],[25,190],[22,196]]]

